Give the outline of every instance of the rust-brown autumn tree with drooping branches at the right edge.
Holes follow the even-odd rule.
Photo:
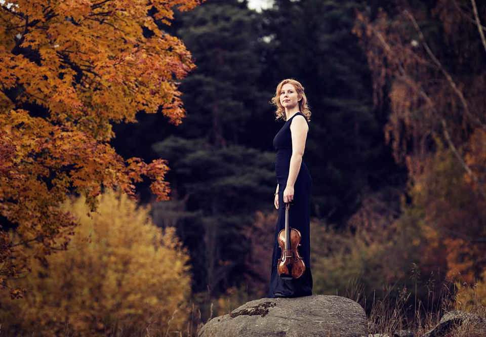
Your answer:
[[[385,136],[408,168],[425,270],[468,283],[486,268],[485,21],[483,2],[410,1],[359,13],[355,26],[375,103],[391,107]]]

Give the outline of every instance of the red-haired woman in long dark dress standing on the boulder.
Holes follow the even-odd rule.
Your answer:
[[[278,209],[278,220],[275,226],[268,297],[308,296],[312,294],[309,235],[309,196],[312,179],[302,156],[309,130],[310,110],[304,87],[290,78],[278,83],[272,103],[277,108],[277,119],[282,118],[286,122],[273,139],[273,146],[277,151],[277,188],[274,205]],[[294,279],[282,279],[277,272],[277,260],[282,254],[277,235],[285,228],[285,203],[290,203],[289,226],[298,229],[302,235],[298,251],[306,266],[304,274]]]

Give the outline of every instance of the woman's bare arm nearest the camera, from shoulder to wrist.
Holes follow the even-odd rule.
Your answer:
[[[304,155],[307,132],[309,131],[309,126],[307,125],[305,117],[301,115],[295,116],[290,124],[290,130],[292,134],[292,157],[290,158],[287,186],[293,188],[299,174],[302,156]]]

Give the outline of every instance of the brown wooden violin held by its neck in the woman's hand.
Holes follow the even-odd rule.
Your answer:
[[[285,203],[285,229],[278,233],[278,245],[282,256],[278,259],[277,271],[280,278],[290,280],[299,278],[304,274],[305,263],[297,250],[302,238],[298,229],[289,226],[290,203]]]

